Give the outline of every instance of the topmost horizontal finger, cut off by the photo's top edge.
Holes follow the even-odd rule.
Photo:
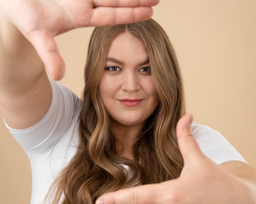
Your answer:
[[[95,7],[153,7],[159,0],[94,0]]]

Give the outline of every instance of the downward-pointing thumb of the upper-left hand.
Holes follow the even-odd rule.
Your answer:
[[[65,73],[65,64],[58,51],[53,35],[48,31],[33,31],[27,39],[36,49],[54,80],[60,80]]]

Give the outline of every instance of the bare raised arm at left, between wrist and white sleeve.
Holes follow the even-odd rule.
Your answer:
[[[6,2],[0,1],[0,111],[10,127],[24,129],[49,109],[51,87],[41,59],[14,25]]]

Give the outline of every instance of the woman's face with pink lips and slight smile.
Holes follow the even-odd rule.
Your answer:
[[[159,104],[146,47],[130,33],[110,44],[99,94],[113,122],[121,125],[144,125]]]

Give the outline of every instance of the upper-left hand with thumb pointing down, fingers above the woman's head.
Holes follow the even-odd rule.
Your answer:
[[[1,0],[0,11],[35,47],[53,79],[65,72],[54,36],[78,27],[142,21],[159,0]]]

